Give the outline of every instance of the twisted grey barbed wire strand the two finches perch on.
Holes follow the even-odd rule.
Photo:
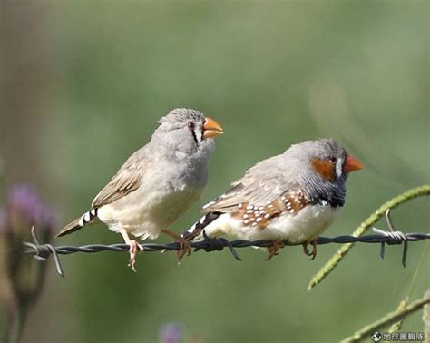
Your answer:
[[[406,253],[407,243],[409,241],[418,240],[429,240],[430,233],[403,233],[401,231],[390,231],[379,230],[374,228],[375,235],[366,236],[337,236],[333,238],[319,237],[317,239],[318,245],[325,245],[330,243],[344,244],[344,243],[379,243],[381,244],[379,255],[382,259],[385,256],[385,245],[403,244],[402,264],[406,267]],[[24,242],[25,253],[34,255],[36,260],[46,260],[50,255],[54,256],[54,264],[58,274],[64,277],[63,268],[61,266],[59,255],[69,255],[75,252],[84,253],[96,253],[102,251],[115,251],[124,252],[129,251],[130,246],[128,244],[90,244],[83,245],[80,247],[75,246],[58,246],[54,247],[52,244],[41,244],[37,238],[37,235],[32,228],[33,242]],[[291,243],[289,241],[283,241],[286,246],[297,246],[303,245],[303,243]],[[259,247],[269,248],[273,246],[273,240],[226,240],[225,238],[209,238],[205,235],[203,240],[190,242],[191,248],[194,251],[204,250],[206,252],[220,251],[228,248],[236,260],[241,260],[236,248],[248,248],[248,247]],[[154,251],[177,251],[180,250],[180,243],[172,242],[167,244],[158,243],[144,243],[142,244],[144,252]]]

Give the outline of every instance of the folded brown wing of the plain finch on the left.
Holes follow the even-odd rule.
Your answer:
[[[141,155],[142,151],[133,153],[122,165],[112,180],[95,196],[92,203],[93,208],[116,201],[139,188],[143,168],[148,168],[148,161],[144,160]]]

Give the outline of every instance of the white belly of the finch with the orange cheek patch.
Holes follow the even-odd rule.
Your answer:
[[[317,238],[333,222],[338,209],[331,206],[314,205],[299,211],[297,215],[284,214],[259,229],[244,226],[229,213],[220,215],[205,228],[210,237],[228,234],[241,240],[289,240],[291,243],[305,242]]]

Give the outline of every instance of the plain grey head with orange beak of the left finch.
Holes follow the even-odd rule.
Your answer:
[[[177,108],[159,120],[152,143],[172,153],[208,156],[214,149],[214,137],[222,133],[220,124],[203,113]]]

